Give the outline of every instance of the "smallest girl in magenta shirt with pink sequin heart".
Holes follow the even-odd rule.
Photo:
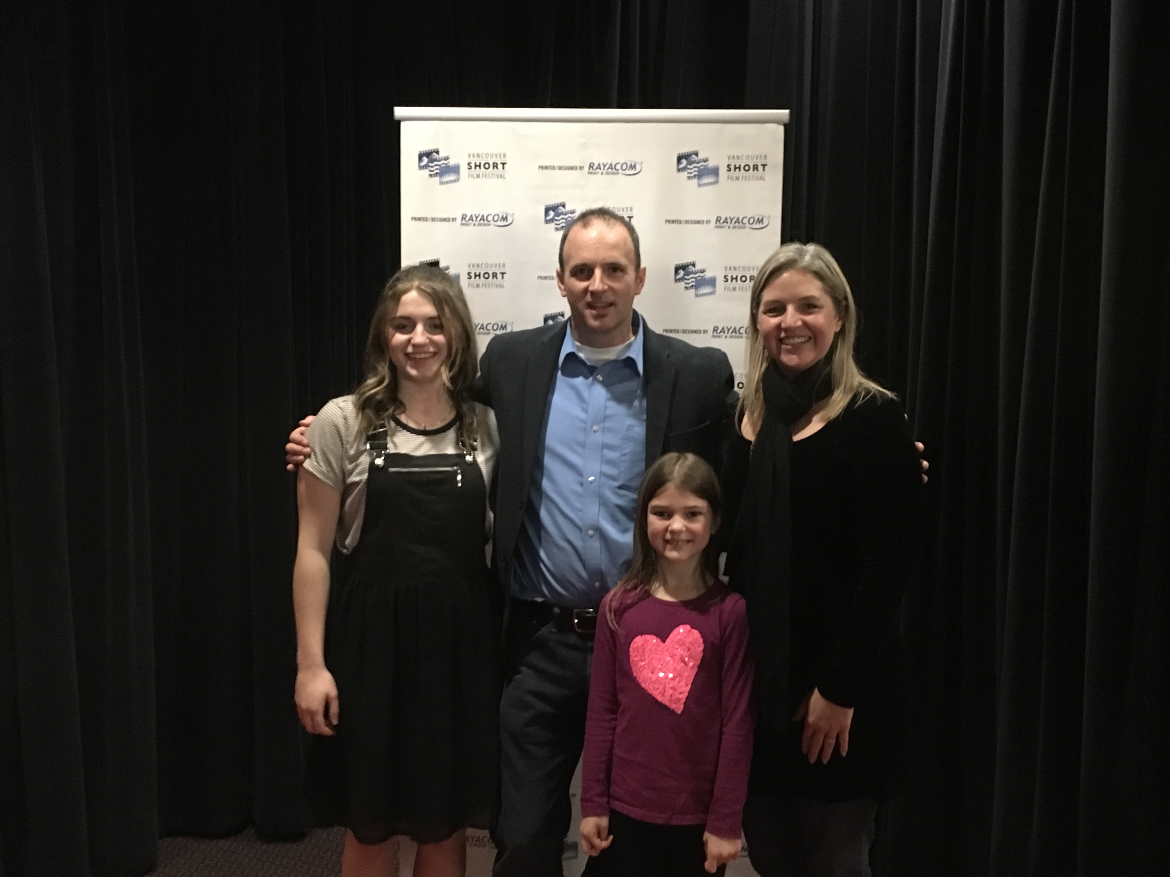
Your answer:
[[[581,772],[587,877],[722,873],[741,850],[752,740],[744,601],[718,578],[718,478],[667,454],[634,558],[601,601]]]

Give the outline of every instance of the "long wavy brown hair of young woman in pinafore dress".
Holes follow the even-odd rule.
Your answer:
[[[459,438],[463,447],[474,450],[479,443],[480,424],[472,405],[472,385],[480,373],[475,346],[475,325],[467,308],[467,298],[459,281],[434,265],[408,265],[386,283],[378,298],[370,336],[366,339],[365,378],[353,391],[353,406],[358,413],[358,435],[380,429],[406,406],[398,398],[398,371],[390,359],[387,330],[398,312],[398,303],[407,292],[418,292],[431,299],[439,312],[442,333],[447,339],[447,359],[442,364],[442,382],[452,407],[459,417]]]

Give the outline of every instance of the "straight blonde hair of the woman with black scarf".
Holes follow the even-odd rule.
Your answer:
[[[759,303],[764,289],[773,279],[786,271],[804,271],[818,281],[837,309],[841,319],[841,329],[833,338],[833,344],[825,354],[830,358],[833,374],[833,394],[823,412],[825,420],[839,416],[853,401],[860,402],[870,395],[893,399],[894,394],[874,380],[870,380],[853,359],[853,344],[858,337],[858,309],[853,303],[853,291],[845,279],[841,267],[832,254],[819,243],[783,244],[776,253],[764,260],[756,279],[751,284],[751,304],[748,317],[748,374],[744,379],[743,394],[739,396],[738,414],[758,427],[764,419],[764,370],[771,361],[764,339],[759,334],[756,318],[759,316]]]

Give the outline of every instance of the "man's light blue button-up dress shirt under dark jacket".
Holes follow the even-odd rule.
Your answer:
[[[633,558],[646,470],[642,320],[624,357],[599,366],[565,326],[516,547],[511,593],[596,608]]]

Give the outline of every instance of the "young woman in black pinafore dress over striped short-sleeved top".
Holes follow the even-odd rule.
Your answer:
[[[314,803],[350,829],[343,877],[390,873],[398,835],[419,843],[417,876],[462,875],[463,829],[486,828],[496,796],[500,626],[484,552],[496,431],[467,395],[474,339],[454,278],[399,271],[374,312],[366,380],[309,428],[296,704],[318,734]],[[350,562],[330,599],[335,538]]]

